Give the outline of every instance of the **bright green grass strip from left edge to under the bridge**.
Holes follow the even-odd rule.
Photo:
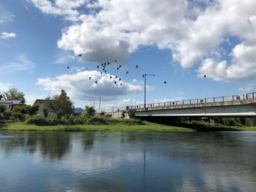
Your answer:
[[[145,125],[78,125],[78,126],[35,126],[26,123],[5,123],[0,131],[194,131],[191,128],[162,126],[156,123]]]

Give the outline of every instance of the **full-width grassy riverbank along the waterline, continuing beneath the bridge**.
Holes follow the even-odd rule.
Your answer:
[[[256,131],[255,126],[164,126],[143,122],[143,125],[74,125],[36,126],[27,123],[2,123],[0,131]]]

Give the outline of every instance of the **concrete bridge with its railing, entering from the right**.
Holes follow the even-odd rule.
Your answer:
[[[127,107],[137,117],[256,117],[256,92]]]

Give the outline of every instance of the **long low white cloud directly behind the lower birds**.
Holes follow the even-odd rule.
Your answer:
[[[113,75],[112,75],[113,76]],[[89,80],[91,77],[91,80]],[[113,76],[114,77],[114,76]],[[97,80],[97,84],[94,83]],[[122,85],[120,85],[122,83]],[[110,79],[110,74],[100,74],[97,71],[78,72],[76,74],[63,74],[55,78],[39,78],[37,84],[45,91],[56,94],[61,89],[67,91],[72,99],[91,100],[104,96],[105,101],[116,99],[118,96],[129,93],[138,93],[143,90],[141,85],[129,82],[117,82]]]

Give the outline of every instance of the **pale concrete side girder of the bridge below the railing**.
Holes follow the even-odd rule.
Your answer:
[[[214,104],[198,107],[181,106],[176,108],[157,107],[157,109],[138,110],[136,117],[256,117],[256,104]]]

